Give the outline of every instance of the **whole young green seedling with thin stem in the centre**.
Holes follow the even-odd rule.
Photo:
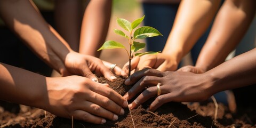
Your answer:
[[[122,27],[124,30],[129,32],[129,36],[127,36],[122,30],[114,29],[114,32],[117,35],[120,35],[122,37],[127,38],[129,46],[130,46],[130,51],[126,49],[126,47],[116,41],[106,41],[100,49],[97,51],[103,50],[103,49],[125,49],[127,52],[127,55],[129,57],[129,74],[128,76],[131,75],[131,60],[135,56],[142,56],[145,54],[157,54],[158,52],[144,52],[144,53],[135,53],[138,52],[142,49],[145,48],[145,43],[140,43],[140,42],[135,42],[135,39],[143,39],[147,37],[154,37],[154,36],[163,36],[159,31],[153,27],[149,26],[142,26],[138,29],[135,29],[140,25],[140,23],[143,21],[145,15],[142,18],[139,18],[137,20],[134,20],[132,23],[127,21],[126,19],[122,18],[117,18],[117,23],[120,27]],[[134,33],[133,33],[134,30]],[[160,52],[160,51],[159,51]]]

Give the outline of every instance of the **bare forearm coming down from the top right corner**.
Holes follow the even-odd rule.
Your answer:
[[[255,14],[255,4],[253,0],[223,3],[209,38],[199,54],[196,67],[207,71],[225,61],[250,26]]]

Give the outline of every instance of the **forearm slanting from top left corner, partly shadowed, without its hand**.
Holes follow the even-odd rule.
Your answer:
[[[48,25],[30,1],[0,1],[1,16],[6,25],[17,34],[41,59],[60,71],[68,44]]]

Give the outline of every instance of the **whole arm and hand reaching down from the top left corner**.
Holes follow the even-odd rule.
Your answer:
[[[6,25],[62,76],[75,74],[97,81],[93,71],[103,74],[110,81],[115,79],[100,59],[71,50],[30,1],[0,1],[0,13]]]

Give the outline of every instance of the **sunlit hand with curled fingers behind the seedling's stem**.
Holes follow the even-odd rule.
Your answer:
[[[138,71],[148,67],[160,71],[174,71],[178,67],[178,62],[170,55],[163,53],[146,54],[142,57],[135,57],[131,61],[131,70]],[[129,62],[125,63],[123,70],[128,74]]]

